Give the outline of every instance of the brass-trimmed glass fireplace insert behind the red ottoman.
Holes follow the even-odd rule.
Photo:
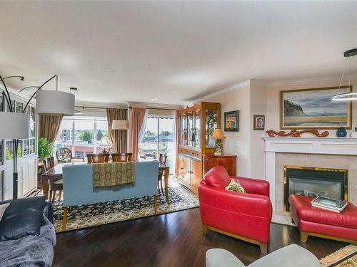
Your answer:
[[[291,194],[347,201],[348,170],[284,166],[284,211],[289,211],[288,197]]]

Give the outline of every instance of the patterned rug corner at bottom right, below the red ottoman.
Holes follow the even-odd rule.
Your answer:
[[[354,267],[357,266],[357,246],[348,245],[321,258],[321,267]]]

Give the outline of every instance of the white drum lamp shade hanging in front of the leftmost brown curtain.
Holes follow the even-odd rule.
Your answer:
[[[57,90],[38,90],[36,93],[38,114],[74,115],[74,94]]]

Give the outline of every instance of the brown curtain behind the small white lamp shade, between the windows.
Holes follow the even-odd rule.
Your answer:
[[[108,120],[109,142],[113,147],[114,153],[126,153],[127,149],[127,131],[128,130],[111,130],[113,120],[128,120],[126,109],[107,108],[106,118]]]

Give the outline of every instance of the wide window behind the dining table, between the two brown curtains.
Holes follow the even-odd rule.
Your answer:
[[[54,152],[61,147],[69,148],[74,157],[86,157],[98,153],[102,137],[108,136],[106,117],[64,117],[59,128]]]

